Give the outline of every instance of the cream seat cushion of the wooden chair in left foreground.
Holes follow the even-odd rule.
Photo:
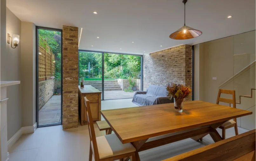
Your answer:
[[[121,141],[118,139],[117,135],[114,133],[97,137],[96,142],[100,159],[136,151],[131,143],[122,144]],[[92,141],[91,148],[92,152],[94,153]]]

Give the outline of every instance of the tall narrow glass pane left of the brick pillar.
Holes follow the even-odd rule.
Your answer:
[[[61,124],[61,40],[38,29],[38,126]]]

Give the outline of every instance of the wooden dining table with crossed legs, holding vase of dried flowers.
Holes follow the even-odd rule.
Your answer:
[[[101,114],[120,141],[131,143],[138,152],[191,138],[196,141],[210,134],[222,140],[216,128],[228,120],[251,115],[251,111],[203,101],[184,102],[182,113],[174,104],[101,110]]]

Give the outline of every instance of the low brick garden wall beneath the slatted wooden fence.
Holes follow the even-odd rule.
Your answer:
[[[53,95],[54,79],[49,79],[38,83],[38,108],[39,110],[49,101]]]

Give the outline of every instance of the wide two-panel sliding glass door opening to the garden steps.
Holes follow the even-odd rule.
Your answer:
[[[142,56],[79,50],[79,82],[102,91],[102,100],[132,98],[142,90]]]

